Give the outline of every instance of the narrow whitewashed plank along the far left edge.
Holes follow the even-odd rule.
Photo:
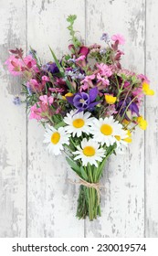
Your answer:
[[[4,66],[8,49],[26,48],[26,1],[2,0],[0,8],[0,237],[26,236],[26,114],[13,104],[20,80]]]

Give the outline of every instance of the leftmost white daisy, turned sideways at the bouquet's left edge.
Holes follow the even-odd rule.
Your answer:
[[[61,150],[64,150],[63,144],[69,144],[69,135],[63,127],[59,127],[57,130],[48,125],[44,136],[44,143],[47,144],[50,154],[61,155]]]

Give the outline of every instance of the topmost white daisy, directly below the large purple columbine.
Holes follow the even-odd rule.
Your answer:
[[[73,137],[79,137],[82,133],[90,134],[90,125],[94,118],[90,117],[90,112],[76,112],[77,110],[71,111],[64,118],[64,122],[68,124],[65,126],[67,133],[72,133]]]

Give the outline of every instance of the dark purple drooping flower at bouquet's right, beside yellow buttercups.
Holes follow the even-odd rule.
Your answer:
[[[131,112],[135,112],[139,116],[140,114],[139,114],[139,108],[138,108],[137,104],[135,102],[130,103],[131,101],[132,101],[131,97],[128,97],[126,99],[126,101],[124,101],[124,100],[120,101],[119,104],[118,104],[117,111],[119,112],[119,110],[121,109],[120,114],[123,115],[125,111],[130,110]],[[129,107],[126,110],[128,105],[129,105]],[[127,120],[130,120],[126,113],[125,113],[124,117]]]

